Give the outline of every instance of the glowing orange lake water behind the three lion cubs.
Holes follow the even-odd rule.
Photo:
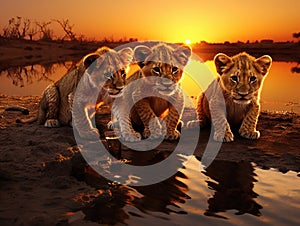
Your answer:
[[[193,63],[195,62],[192,61],[192,65]],[[41,95],[50,82],[58,80],[75,64],[76,62],[67,61],[50,65],[15,67],[1,71],[0,93],[19,96]],[[184,90],[193,96],[194,100],[201,88],[204,89],[211,82],[212,76],[208,75],[217,76],[212,61],[206,61],[199,68],[197,76],[208,78],[202,87],[198,87],[188,74],[183,80]],[[296,62],[273,62],[262,91],[262,109],[300,113],[299,84],[299,64]]]

